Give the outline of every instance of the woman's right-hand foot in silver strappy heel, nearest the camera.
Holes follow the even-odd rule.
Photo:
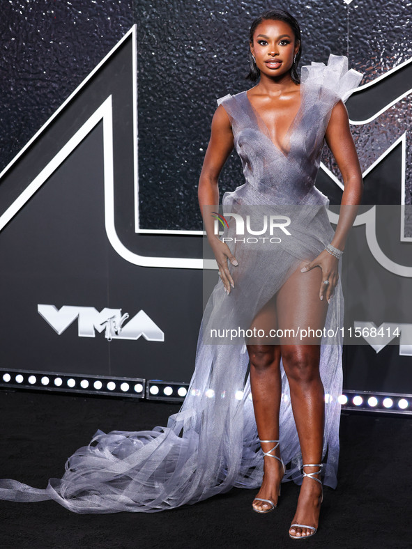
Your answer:
[[[305,467],[305,472],[310,473],[319,470],[319,467]],[[321,479],[320,474],[314,474],[314,478]],[[310,477],[303,477],[302,486],[298,499],[298,507],[293,517],[292,524],[313,526],[317,529],[319,525],[319,513],[321,511],[322,486],[319,482],[314,482]],[[305,537],[314,534],[312,528],[291,526],[289,528],[291,536]]]

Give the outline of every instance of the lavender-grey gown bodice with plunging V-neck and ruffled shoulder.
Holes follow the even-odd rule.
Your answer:
[[[224,107],[231,121],[245,176],[245,185],[226,193],[223,205],[266,200],[327,205],[327,196],[314,185],[326,128],[333,107],[339,100],[345,102],[362,78],[362,73],[348,70],[346,56],[330,54],[328,65],[312,62],[303,66],[300,106],[284,139],[284,150],[272,141],[247,91],[219,98],[218,105]]]

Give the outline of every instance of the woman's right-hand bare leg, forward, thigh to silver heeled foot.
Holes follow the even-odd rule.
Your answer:
[[[279,327],[322,329],[325,325],[328,302],[319,299],[321,269],[316,268],[302,273],[300,267],[277,293],[276,310]],[[281,339],[280,351],[284,371],[289,380],[293,417],[298,431],[303,463],[321,463],[325,401],[319,374],[320,338],[312,337],[306,341]],[[319,470],[319,467],[305,467],[306,473],[316,470]],[[320,474],[314,477],[320,480]],[[319,482],[304,477],[292,523],[312,525],[317,528],[321,507],[320,496]],[[293,527],[289,532],[293,536],[306,536],[313,531],[309,528]]]

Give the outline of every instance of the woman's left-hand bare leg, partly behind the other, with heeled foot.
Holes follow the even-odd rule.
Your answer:
[[[271,300],[254,318],[252,327],[265,330],[276,328],[275,300]],[[250,387],[252,389],[254,416],[257,431],[261,440],[279,440],[279,412],[282,394],[280,377],[280,346],[264,345],[265,340],[254,341],[257,344],[247,345],[250,357]],[[269,451],[275,442],[262,442],[264,451]],[[280,457],[279,447],[271,454]],[[283,467],[280,461],[264,456],[264,479],[257,497],[271,500],[277,504],[280,482],[283,477]],[[270,504],[255,500],[255,509],[270,509]]]

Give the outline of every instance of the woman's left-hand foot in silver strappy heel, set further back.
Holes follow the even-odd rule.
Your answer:
[[[271,447],[273,448],[273,442],[262,443],[262,448],[264,449],[264,451],[269,451]],[[277,447],[277,449],[272,451],[271,454],[280,458],[279,448]],[[264,479],[256,497],[261,497],[262,500],[270,500],[271,502],[273,502],[273,505],[268,502],[259,501],[255,498],[252,503],[252,507],[255,511],[258,511],[259,513],[264,513],[267,511],[271,511],[272,509],[274,509],[274,507],[277,506],[280,483],[282,481],[283,475],[284,468],[282,463],[279,460],[274,459],[273,457],[271,458],[270,456],[264,456]]]

